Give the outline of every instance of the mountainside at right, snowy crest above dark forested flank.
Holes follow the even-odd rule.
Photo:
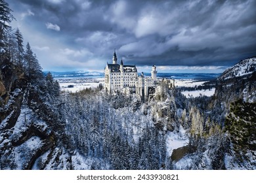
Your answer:
[[[213,96],[213,120],[224,125],[224,118],[230,104],[238,99],[253,103],[256,101],[256,58],[244,59],[226,69],[217,79]]]

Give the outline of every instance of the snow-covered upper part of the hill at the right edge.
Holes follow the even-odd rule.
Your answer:
[[[226,69],[220,79],[227,80],[234,77],[250,75],[256,71],[256,58],[248,58],[240,61],[233,67]]]

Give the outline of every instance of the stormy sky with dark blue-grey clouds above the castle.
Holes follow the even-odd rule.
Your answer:
[[[219,73],[256,56],[256,1],[6,0],[45,71]]]

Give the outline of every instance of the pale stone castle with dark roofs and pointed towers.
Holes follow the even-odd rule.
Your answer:
[[[138,76],[135,65],[123,65],[123,59],[121,59],[120,65],[117,63],[115,50],[112,64],[107,63],[105,67],[105,88],[110,93],[115,90],[121,92],[123,88],[128,87],[141,97],[148,97],[156,85],[157,73],[156,65],[153,65],[151,77],[145,77],[143,73]]]

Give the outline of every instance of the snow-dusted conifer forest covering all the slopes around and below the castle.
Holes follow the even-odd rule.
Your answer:
[[[144,101],[102,84],[60,92],[0,0],[0,169],[256,169],[256,58],[186,98],[158,81]]]

